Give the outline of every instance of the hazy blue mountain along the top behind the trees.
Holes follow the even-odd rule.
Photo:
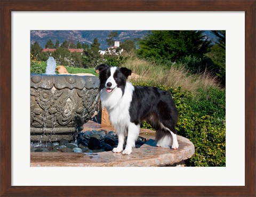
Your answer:
[[[93,39],[97,38],[102,50],[108,47],[106,39],[112,30],[31,30],[30,44],[36,41],[44,48],[49,39],[55,44],[58,39],[60,44],[65,40],[77,44],[77,42],[92,44]],[[114,30],[117,31],[117,41],[123,42],[126,39],[142,38],[148,34],[148,30]],[[210,39],[215,38],[210,31],[205,31],[205,36]]]

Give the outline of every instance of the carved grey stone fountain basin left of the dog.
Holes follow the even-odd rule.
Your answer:
[[[30,75],[30,140],[75,139],[99,102],[98,77]]]

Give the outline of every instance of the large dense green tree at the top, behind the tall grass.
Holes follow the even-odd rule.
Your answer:
[[[139,42],[138,55],[149,59],[166,59],[172,62],[191,55],[199,58],[209,51],[210,40],[203,31],[150,31]]]

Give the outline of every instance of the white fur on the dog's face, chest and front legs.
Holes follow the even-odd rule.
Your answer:
[[[111,68],[111,76],[106,81],[105,85],[107,87],[108,82],[112,83],[111,88],[114,88],[113,91],[115,91],[115,94],[109,94],[106,89],[102,89],[100,93],[101,104],[103,107],[108,109],[110,122],[118,131],[118,146],[113,149],[113,152],[123,151],[124,138],[126,134],[128,134],[126,147],[122,153],[131,154],[132,148],[135,147],[135,141],[139,137],[140,133],[140,125],[135,125],[130,122],[129,105],[127,105],[127,103],[132,101],[134,87],[126,81],[124,95],[122,95],[122,90],[120,88],[115,88],[116,83],[113,78],[115,69],[115,67]],[[126,128],[128,128],[128,131]]]

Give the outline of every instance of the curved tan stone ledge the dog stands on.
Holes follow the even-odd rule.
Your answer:
[[[30,167],[150,167],[175,166],[191,158],[195,146],[187,138],[178,136],[179,149],[143,145],[133,149],[132,154],[121,153],[47,153],[31,152]]]

